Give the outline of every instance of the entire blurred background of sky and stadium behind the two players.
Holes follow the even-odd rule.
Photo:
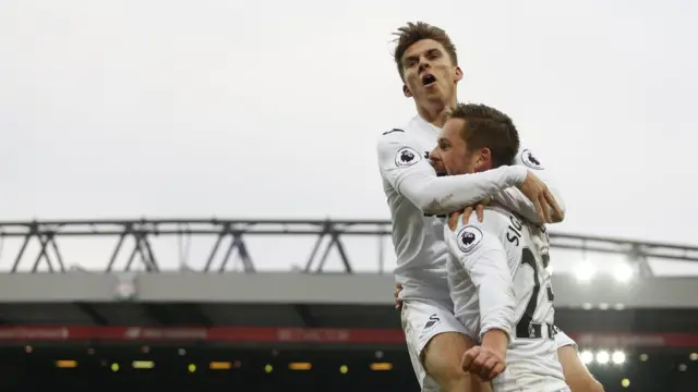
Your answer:
[[[558,326],[606,391],[698,384],[696,3],[0,2],[0,384],[417,391],[377,136],[392,33],[554,171]]]

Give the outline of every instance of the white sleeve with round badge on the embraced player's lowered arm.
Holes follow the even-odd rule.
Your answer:
[[[473,217],[470,221],[477,219]],[[478,290],[480,339],[489,330],[498,329],[510,341],[516,294],[497,224],[501,221],[496,217],[485,217],[482,223],[460,223],[450,235],[458,244],[458,261]]]

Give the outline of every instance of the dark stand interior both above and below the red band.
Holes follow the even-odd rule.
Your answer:
[[[390,306],[369,305],[2,304],[0,314],[5,326],[400,327],[398,313]],[[693,309],[563,308],[556,318],[570,333],[695,332],[697,315]],[[695,351],[628,348],[622,365],[589,366],[610,392],[694,391],[698,360],[689,355]],[[0,348],[0,385],[5,391],[38,390],[46,381],[73,391],[94,390],[105,383],[115,390],[418,391],[405,346],[394,343],[15,341]],[[152,368],[134,368],[134,362]],[[212,363],[221,368],[212,369]],[[118,371],[113,364],[118,364]],[[302,369],[290,369],[291,364]],[[191,371],[192,365],[195,371]]]

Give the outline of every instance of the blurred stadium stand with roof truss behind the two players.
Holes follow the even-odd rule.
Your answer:
[[[196,222],[208,228],[196,229]],[[386,222],[308,221],[305,229],[289,229],[299,221],[269,224],[0,222],[0,238],[20,240],[15,257],[0,258],[0,266],[8,268],[0,274],[0,387],[27,391],[50,382],[51,388],[72,391],[418,391],[393,308],[392,277],[353,272],[340,238],[351,230],[360,233],[354,235],[385,236]],[[361,224],[364,229],[357,229]],[[370,225],[373,229],[365,229]],[[163,271],[147,237],[196,230],[229,237],[229,248],[246,258],[242,272],[213,273],[213,257],[198,271]],[[323,249],[315,246],[305,273],[255,272],[243,241],[243,234],[254,230],[266,230],[262,235],[289,230],[324,234],[329,238],[325,248],[339,247],[345,271],[322,273]],[[117,267],[116,257],[107,260],[105,271],[70,271],[57,241],[67,233],[81,238],[132,236],[131,254],[141,255],[144,271]],[[22,265],[25,240],[38,243],[38,256],[28,266]],[[551,241],[562,248],[587,242],[598,250],[631,253],[640,261],[691,260],[696,253],[690,247],[582,236],[552,235]],[[49,265],[53,273],[40,273]],[[35,273],[22,273],[23,266]],[[553,279],[556,321],[579,343],[582,360],[606,391],[696,390],[696,278],[643,273],[626,284],[611,275],[595,277],[593,284],[574,275]]]

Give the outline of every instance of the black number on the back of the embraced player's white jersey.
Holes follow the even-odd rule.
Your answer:
[[[535,307],[538,306],[538,295],[541,291],[541,281],[538,278],[538,262],[535,262],[533,253],[527,247],[522,248],[521,252],[521,267],[529,266],[533,271],[533,292],[531,293],[531,298],[526,305],[526,310],[524,311],[521,319],[516,324],[516,338],[541,339],[543,338],[542,329],[543,326],[545,326],[547,329],[547,339],[554,340],[556,333],[554,324],[533,322],[533,315],[535,314]],[[551,286],[546,286],[545,290],[547,291],[547,301],[552,302],[555,298],[553,289]]]

